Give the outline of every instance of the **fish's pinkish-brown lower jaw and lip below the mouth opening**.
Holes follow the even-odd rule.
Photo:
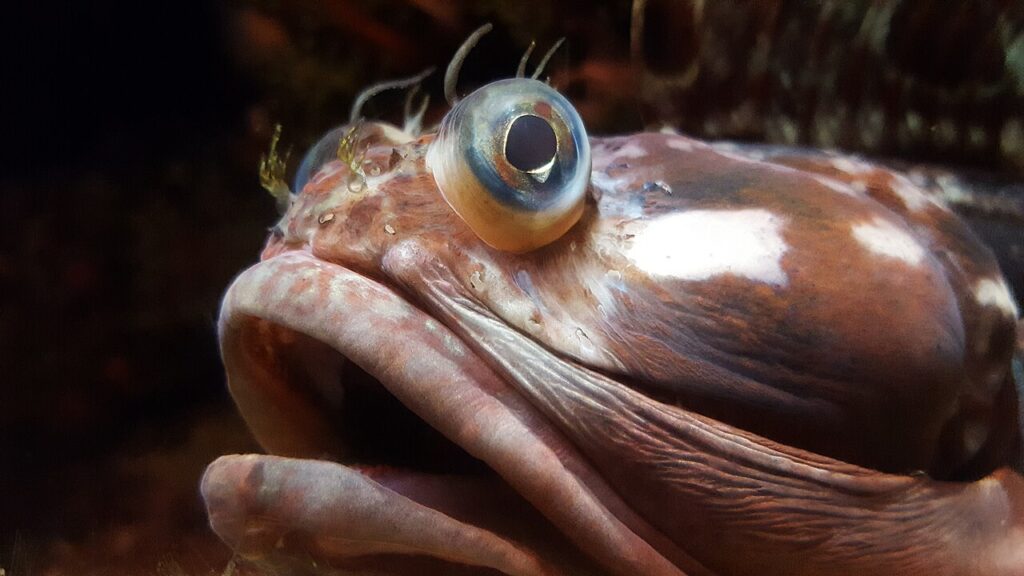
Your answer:
[[[494,477],[224,456],[203,494],[214,531],[269,574],[602,573]]]

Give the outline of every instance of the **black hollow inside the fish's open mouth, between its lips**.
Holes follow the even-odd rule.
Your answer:
[[[259,322],[270,332],[271,347],[292,392],[323,408],[335,434],[332,440],[341,445],[341,463],[427,474],[494,474],[341,353],[301,332]]]

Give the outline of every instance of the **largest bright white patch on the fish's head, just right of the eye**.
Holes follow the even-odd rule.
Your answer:
[[[653,276],[708,280],[732,275],[784,286],[782,219],[768,210],[690,210],[639,229],[627,257]]]

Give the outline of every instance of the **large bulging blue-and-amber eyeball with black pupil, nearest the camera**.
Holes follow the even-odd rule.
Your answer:
[[[575,109],[553,88],[501,80],[449,112],[427,166],[480,240],[526,252],[561,238],[583,214],[590,141]]]

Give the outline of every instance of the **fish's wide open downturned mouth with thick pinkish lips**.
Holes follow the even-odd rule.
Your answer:
[[[211,526],[243,558],[681,574],[578,448],[399,290],[285,252],[240,275],[219,328],[232,397],[274,454],[222,457],[203,479]]]

